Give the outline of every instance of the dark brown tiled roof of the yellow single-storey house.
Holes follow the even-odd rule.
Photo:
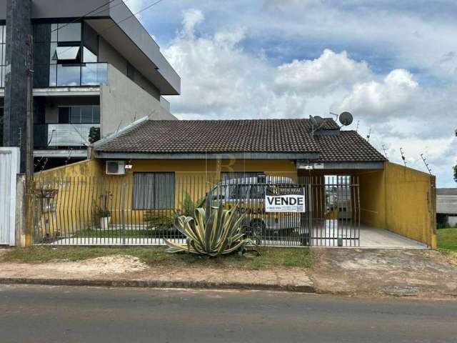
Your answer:
[[[326,119],[324,129],[338,129]],[[355,131],[311,135],[308,119],[145,121],[96,148],[139,154],[320,152],[323,161],[382,161]]]

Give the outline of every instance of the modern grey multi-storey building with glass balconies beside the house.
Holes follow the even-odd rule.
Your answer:
[[[35,169],[86,159],[136,119],[176,119],[164,95],[181,79],[123,1],[0,0],[0,145],[25,169],[27,40],[33,38]]]

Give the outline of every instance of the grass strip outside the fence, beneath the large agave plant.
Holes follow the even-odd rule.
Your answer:
[[[49,262],[52,260],[79,261],[114,254],[127,254],[139,257],[154,266],[193,266],[240,269],[309,268],[314,257],[308,248],[267,248],[261,247],[258,257],[230,254],[207,258],[193,254],[169,254],[165,247],[30,247],[11,249],[3,255],[5,262]]]

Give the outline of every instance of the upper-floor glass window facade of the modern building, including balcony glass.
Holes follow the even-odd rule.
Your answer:
[[[98,63],[98,35],[85,23],[36,24],[34,86],[106,84]]]

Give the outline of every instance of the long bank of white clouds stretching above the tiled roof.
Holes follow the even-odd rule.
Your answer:
[[[181,76],[181,96],[168,97],[176,116],[243,119],[351,111],[356,120],[350,129],[358,120],[363,135],[371,127],[371,143],[380,151],[384,144],[390,159],[401,162],[402,146],[408,165],[424,170],[419,156],[424,153],[438,185],[452,185],[457,86],[427,87],[406,69],[376,74],[365,61],[330,49],[316,59],[275,66],[265,54],[244,49],[250,34],[238,23],[208,31],[202,11],[184,11],[181,29],[162,49]],[[453,54],[443,63],[448,61]]]

